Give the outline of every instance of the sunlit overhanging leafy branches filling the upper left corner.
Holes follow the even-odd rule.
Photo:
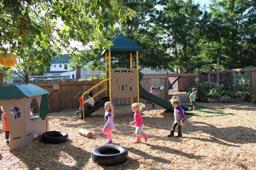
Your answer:
[[[3,0],[0,8],[0,51],[15,52],[20,71],[48,66],[52,56],[71,52],[71,40],[109,48],[103,31],[133,16],[121,0]]]

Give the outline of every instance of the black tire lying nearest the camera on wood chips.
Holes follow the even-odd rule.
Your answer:
[[[128,152],[125,147],[119,145],[105,145],[94,148],[91,158],[99,165],[115,166],[127,161]]]

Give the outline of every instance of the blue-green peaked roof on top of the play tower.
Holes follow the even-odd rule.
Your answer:
[[[132,42],[130,39],[119,34],[113,41],[113,46],[110,47],[111,55],[129,55],[130,52],[135,53],[136,51],[142,51],[142,48]],[[109,50],[105,49],[101,54]]]

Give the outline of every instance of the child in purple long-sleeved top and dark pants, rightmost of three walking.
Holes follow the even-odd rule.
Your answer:
[[[174,118],[175,121],[172,124],[171,127],[171,132],[168,135],[168,137],[173,137],[175,128],[177,127],[178,129],[178,136],[176,137],[182,137],[182,131],[181,128],[182,126],[185,125],[185,115],[183,109],[180,107],[180,102],[178,99],[171,100],[172,106],[174,108]]]

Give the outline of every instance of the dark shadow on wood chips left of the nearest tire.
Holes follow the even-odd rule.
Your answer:
[[[84,151],[79,147],[75,147],[74,145],[71,145],[71,143],[72,141],[69,139],[61,144],[45,144],[41,141],[41,138],[38,138],[36,141],[29,144],[30,147],[21,147],[11,151],[11,153],[22,160],[29,170],[34,170],[38,167],[49,167],[49,165],[54,165],[54,167],[63,170],[71,170],[74,168],[82,169],[84,164],[88,162],[88,158],[91,157],[91,153]],[[65,163],[59,162],[61,153],[72,157],[72,159],[76,161],[76,166],[67,165],[69,160],[66,160],[67,162]],[[40,160],[38,160],[38,156],[40,157]]]

